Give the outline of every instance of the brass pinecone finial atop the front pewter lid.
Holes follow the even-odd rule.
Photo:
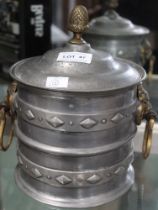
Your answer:
[[[76,6],[69,17],[68,29],[74,33],[73,39],[70,41],[72,44],[83,44],[82,33],[88,28],[88,11],[82,5]]]

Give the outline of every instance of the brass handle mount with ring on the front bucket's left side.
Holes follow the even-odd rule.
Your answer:
[[[0,104],[0,150],[2,151],[6,151],[10,147],[14,136],[15,113],[13,113],[12,111],[12,106],[16,91],[17,83],[13,82],[7,90],[5,101]],[[4,133],[8,118],[10,118],[11,127],[9,131],[8,141],[5,143]]]

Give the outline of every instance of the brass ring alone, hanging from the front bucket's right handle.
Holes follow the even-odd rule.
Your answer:
[[[144,141],[143,141],[143,147],[142,147],[144,159],[147,159],[150,155],[150,151],[152,147],[152,136],[153,136],[154,124],[155,124],[154,118],[150,118],[146,122]]]

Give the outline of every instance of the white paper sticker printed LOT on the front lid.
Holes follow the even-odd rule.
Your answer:
[[[87,63],[92,62],[93,55],[90,53],[81,52],[61,52],[58,55],[57,61]]]

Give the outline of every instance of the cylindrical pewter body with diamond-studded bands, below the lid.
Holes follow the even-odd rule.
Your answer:
[[[96,206],[124,194],[134,177],[136,103],[136,87],[108,95],[52,93],[19,85],[20,188],[62,207]]]

